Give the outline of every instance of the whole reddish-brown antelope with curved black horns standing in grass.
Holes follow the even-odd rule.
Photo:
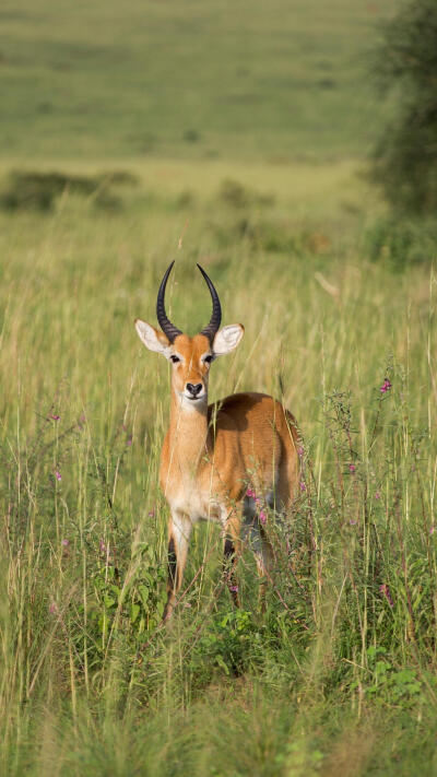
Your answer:
[[[182,582],[192,527],[201,519],[220,523],[227,581],[235,604],[235,563],[240,550],[241,519],[258,537],[259,574],[270,576],[272,546],[264,531],[256,494],[270,507],[285,510],[298,478],[298,435],[293,415],[272,397],[235,393],[208,404],[211,363],[234,351],[244,334],[240,323],[220,329],[218,295],[200,264],[212,297],[212,316],[200,334],[190,338],[165,313],[165,287],[174,262],[160,286],[156,316],[161,331],[137,319],[137,332],[151,351],[172,363],[170,423],[161,454],[160,482],[170,508],[168,588],[164,619],[173,612]],[[261,520],[260,520],[261,518]],[[261,600],[263,600],[261,587]]]

